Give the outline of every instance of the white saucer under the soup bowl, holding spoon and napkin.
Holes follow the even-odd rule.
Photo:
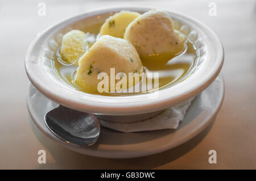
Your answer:
[[[223,98],[224,82],[219,76],[212,85],[196,96],[177,129],[121,133],[102,128],[97,143],[88,148],[67,144],[49,131],[44,124],[44,115],[52,107],[56,107],[56,103],[47,99],[32,85],[27,94],[27,107],[37,127],[52,140],[68,149],[96,157],[133,158],[172,149],[195,137],[214,120]]]

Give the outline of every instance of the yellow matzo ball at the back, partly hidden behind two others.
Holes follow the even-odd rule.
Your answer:
[[[102,24],[100,34],[123,38],[127,26],[139,15],[138,12],[121,11],[106,19]]]

